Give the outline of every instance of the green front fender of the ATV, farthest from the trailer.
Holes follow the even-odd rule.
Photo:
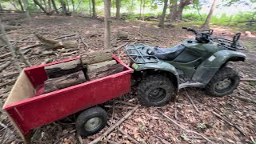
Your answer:
[[[206,85],[214,74],[229,61],[245,61],[246,54],[233,50],[220,50],[214,53],[210,58],[206,59],[199,66],[193,76],[194,82],[201,82]]]

